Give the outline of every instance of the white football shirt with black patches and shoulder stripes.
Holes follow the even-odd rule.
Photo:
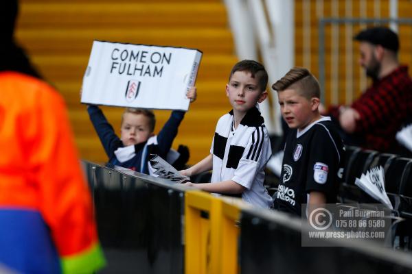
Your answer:
[[[242,199],[260,208],[273,208],[264,188],[264,169],[271,158],[271,142],[258,108],[251,108],[237,129],[233,110],[220,117],[210,153],[213,155],[211,183],[233,180],[247,190]]]

